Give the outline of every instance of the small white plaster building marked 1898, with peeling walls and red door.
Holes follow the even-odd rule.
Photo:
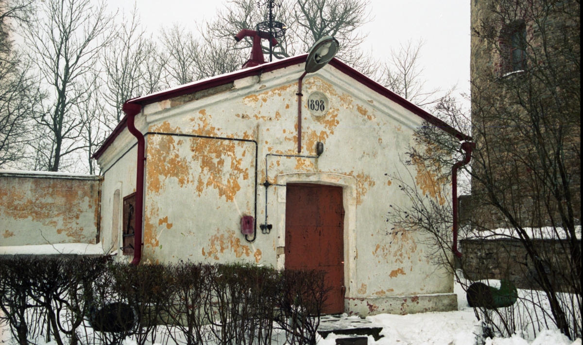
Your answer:
[[[387,174],[408,174],[402,160],[415,128],[427,119],[460,134],[333,59],[304,78],[298,153],[305,56],[127,101],[139,105],[135,126],[145,136],[142,261],[318,266],[335,270],[339,308],[349,314],[456,309],[451,274],[431,263],[417,234],[391,231],[386,216],[389,204],[409,205]],[[136,155],[126,117],[95,156],[101,241],[127,254]],[[412,174],[440,198],[424,167]],[[254,217],[255,235],[241,233],[243,216]],[[335,253],[339,262],[326,262]]]

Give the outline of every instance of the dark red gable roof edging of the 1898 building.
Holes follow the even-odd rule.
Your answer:
[[[274,62],[268,62],[263,65],[240,69],[238,71],[225,73],[219,76],[196,80],[196,82],[172,87],[170,89],[148,94],[146,96],[132,98],[130,100],[127,100],[126,103],[139,104],[142,105],[143,107],[144,105],[147,104],[152,104],[159,101],[168,100],[170,98],[184,96],[185,94],[195,93],[196,91],[210,89],[211,87],[232,83],[238,79],[261,75],[261,73],[275,71],[276,69],[286,68],[291,65],[303,64],[307,56],[308,54],[297,55],[295,57],[285,58]],[[354,80],[368,87],[369,89],[381,94],[382,96],[389,98],[389,100],[394,101],[396,104],[401,105],[406,110],[413,112],[413,114],[426,120],[430,124],[438,128],[441,128],[442,130],[444,130],[445,132],[449,133],[452,136],[455,136],[455,138],[458,138],[459,140],[472,140],[470,136],[457,131],[455,128],[446,124],[441,119],[434,117],[429,112],[423,110],[420,107],[417,107],[417,105],[411,103],[410,101],[399,96],[393,91],[380,85],[373,79],[368,78],[366,75],[363,75],[363,73],[356,71],[356,69],[350,67],[349,65],[346,65],[339,59],[333,58],[329,62],[329,65],[338,69],[338,71],[345,73],[347,76],[350,76],[350,78],[353,78]],[[110,136],[108,136],[103,145],[101,145],[99,150],[97,150],[93,154],[92,156],[93,159],[99,159],[99,157],[101,157],[101,155],[107,150],[107,147],[109,147],[114,142],[115,138],[117,138],[117,136],[120,135],[122,131],[124,131],[124,129],[127,127],[127,120],[128,120],[127,115],[123,119],[121,119],[120,123],[117,126],[115,126],[113,132],[111,132]]]

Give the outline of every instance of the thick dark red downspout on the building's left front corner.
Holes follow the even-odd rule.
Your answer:
[[[124,103],[121,110],[128,115],[128,131],[138,139],[138,168],[136,170],[136,205],[134,223],[134,260],[131,265],[139,265],[142,260],[142,222],[143,222],[143,196],[144,196],[144,161],[145,140],[142,132],[134,125],[136,115],[142,111],[142,105]]]

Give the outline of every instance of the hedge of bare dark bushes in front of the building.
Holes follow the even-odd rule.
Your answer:
[[[321,271],[107,257],[0,259],[0,322],[19,345],[315,344]]]

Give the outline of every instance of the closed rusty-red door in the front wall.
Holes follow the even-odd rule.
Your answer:
[[[287,184],[286,269],[326,271],[332,287],[325,314],[344,312],[344,207],[342,187]]]

